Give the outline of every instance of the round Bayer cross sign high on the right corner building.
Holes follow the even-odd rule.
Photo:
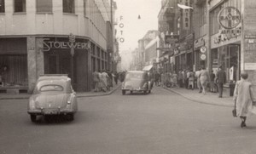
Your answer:
[[[241,23],[241,13],[235,7],[225,7],[218,13],[218,23],[225,29],[232,29]]]

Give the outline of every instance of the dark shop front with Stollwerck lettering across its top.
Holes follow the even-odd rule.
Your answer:
[[[44,37],[44,74],[67,74],[76,91],[90,90],[90,41]],[[93,66],[95,67],[95,66]]]

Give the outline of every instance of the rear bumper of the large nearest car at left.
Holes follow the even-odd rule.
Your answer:
[[[76,111],[70,109],[38,109],[38,110],[28,110],[27,113],[31,115],[67,115],[73,114]]]

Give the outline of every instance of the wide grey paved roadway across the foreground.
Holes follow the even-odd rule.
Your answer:
[[[152,94],[79,99],[73,122],[31,123],[27,100],[0,100],[0,153],[254,153],[256,118],[247,128],[231,108],[191,102],[163,88]]]

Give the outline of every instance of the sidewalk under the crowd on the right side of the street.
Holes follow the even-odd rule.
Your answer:
[[[164,87],[166,88],[166,87]],[[202,104],[211,104],[216,106],[234,106],[232,96],[223,95],[223,98],[218,98],[218,93],[207,92],[207,94],[199,93],[199,89],[187,88],[166,88],[175,94],[179,94],[188,100],[192,100]]]

